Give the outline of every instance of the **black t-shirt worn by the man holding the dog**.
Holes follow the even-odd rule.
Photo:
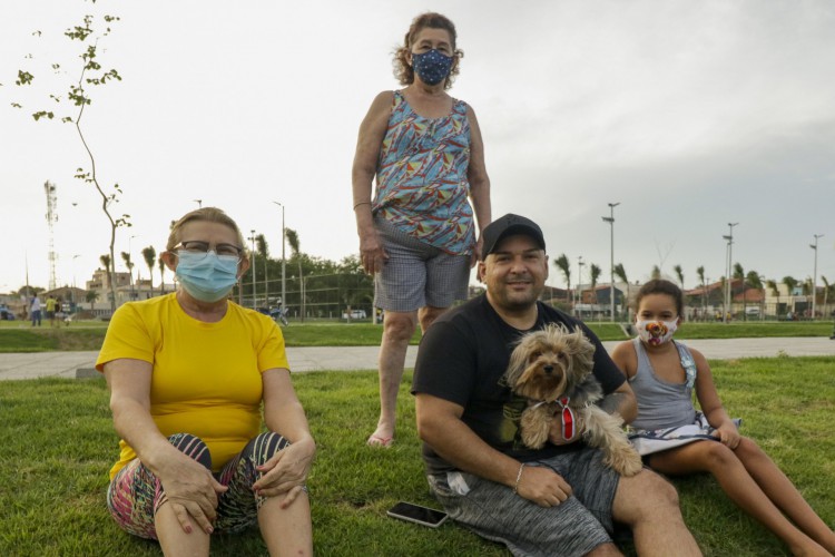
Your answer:
[[[537,302],[538,317],[532,330],[548,323],[582,329],[595,344],[595,377],[608,394],[626,378],[615,365],[600,340],[583,323],[570,315]],[[522,462],[539,460],[560,452],[577,450],[581,442],[567,446],[547,443],[542,449],[524,447],[519,437],[519,417],[525,399],[513,395],[502,377],[508,369],[515,342],[528,331],[507,324],[485,295],[441,315],[426,331],[418,351],[412,393],[438,397],[464,408],[462,421],[494,449]],[[423,443],[423,459],[429,473],[453,470],[432,448]]]

